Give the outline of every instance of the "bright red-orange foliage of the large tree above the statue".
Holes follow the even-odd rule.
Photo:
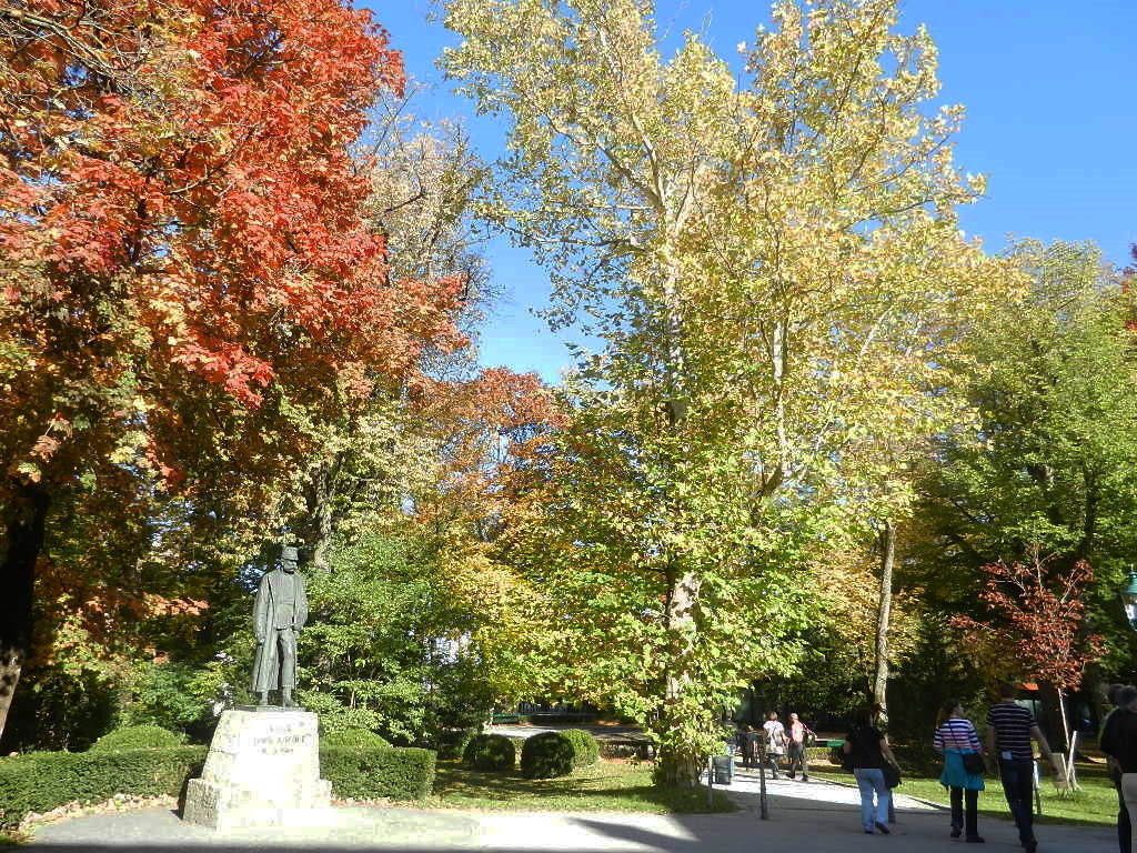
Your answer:
[[[279,378],[318,394],[465,342],[463,282],[391,281],[363,213],[349,147],[404,80],[368,16],[340,0],[0,9],[9,472],[66,478],[63,452],[151,426],[142,464],[176,480],[171,409],[202,383],[255,408]]]

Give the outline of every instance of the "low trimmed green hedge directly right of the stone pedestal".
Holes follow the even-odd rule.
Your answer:
[[[414,747],[324,747],[319,775],[338,797],[422,800],[434,785],[434,757],[432,751]]]

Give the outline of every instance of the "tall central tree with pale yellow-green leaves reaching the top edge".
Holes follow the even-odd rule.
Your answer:
[[[648,5],[447,8],[443,67],[512,122],[488,214],[605,343],[511,560],[563,682],[684,784],[736,687],[792,666],[811,552],[911,499],[893,439],[952,422],[941,365],[1020,280],[958,232],[962,110],[928,117],[935,48],[890,0],[777,3],[744,88],[696,36],[665,60]]]

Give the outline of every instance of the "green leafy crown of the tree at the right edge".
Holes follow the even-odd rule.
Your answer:
[[[915,581],[932,611],[977,618],[980,568],[1062,570],[1088,561],[1089,621],[1106,635],[1106,668],[1134,638],[1117,605],[1137,541],[1137,372],[1127,296],[1086,243],[1024,241],[1010,259],[1030,278],[1021,301],[977,322],[953,365],[977,430],[948,430],[920,472],[924,531]],[[1086,631],[1079,635],[1085,640]]]

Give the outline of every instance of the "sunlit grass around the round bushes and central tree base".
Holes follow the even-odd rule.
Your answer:
[[[706,788],[658,790],[649,765],[601,759],[558,779],[525,779],[521,771],[467,770],[458,761],[440,761],[428,808],[520,811],[620,811],[666,814],[731,812],[722,792],[707,808]]]

